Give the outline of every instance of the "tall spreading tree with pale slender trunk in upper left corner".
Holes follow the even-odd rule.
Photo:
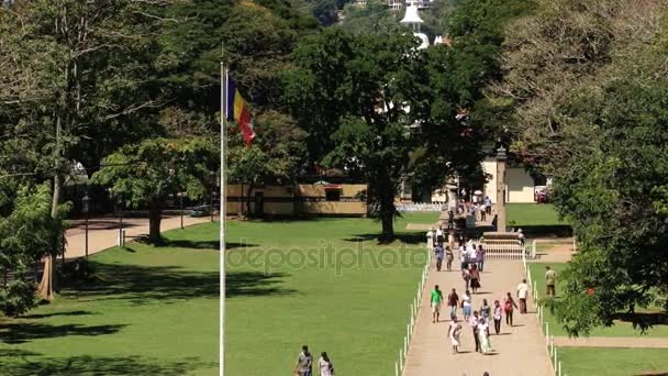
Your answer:
[[[154,84],[155,35],[164,22],[151,12],[166,3],[36,0],[0,8],[2,148],[27,146],[11,169],[53,179],[54,217],[73,159],[96,166],[120,144],[151,133],[146,112],[163,106]],[[52,267],[47,257],[45,298]]]

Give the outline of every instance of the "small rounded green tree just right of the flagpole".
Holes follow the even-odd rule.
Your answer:
[[[305,132],[285,114],[269,111],[255,121],[260,134],[248,146],[243,144],[235,124],[229,126],[227,179],[246,187],[246,213],[250,214],[250,193],[258,185],[289,184],[305,158]]]

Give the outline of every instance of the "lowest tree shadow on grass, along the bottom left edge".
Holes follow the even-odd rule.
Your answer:
[[[2,352],[0,352],[2,355]],[[16,357],[21,356],[19,360]],[[214,363],[199,358],[183,358],[178,362],[165,362],[141,356],[73,356],[67,358],[45,357],[30,353],[13,355],[13,358],[0,357],[0,369],[3,375],[51,376],[51,375],[185,375],[198,368],[215,368]]]

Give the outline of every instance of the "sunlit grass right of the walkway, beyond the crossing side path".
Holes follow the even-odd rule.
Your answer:
[[[549,265],[555,272],[557,272],[557,278],[561,270],[566,268],[566,264],[543,264],[543,263],[531,263],[530,269],[532,274],[532,278],[536,281],[536,289],[538,290],[538,297],[543,297],[545,294],[545,266]],[[565,285],[564,280],[557,279],[557,298],[559,297],[559,291],[561,290],[561,285]],[[545,320],[549,323],[549,332],[553,335],[568,335],[566,331],[558,324],[555,317],[549,312],[549,310],[545,310]],[[590,333],[591,336],[668,336],[668,325],[655,325],[649,329],[646,333],[641,333],[641,331],[635,330],[631,322],[627,321],[615,321],[615,324],[610,328],[600,328],[595,329]]]

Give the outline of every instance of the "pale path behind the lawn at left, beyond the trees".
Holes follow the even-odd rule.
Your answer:
[[[205,223],[211,221],[209,217],[192,218],[183,217],[183,226]],[[160,230],[163,232],[181,226],[179,215],[163,217]],[[65,258],[77,258],[86,255],[86,233],[84,221],[74,222],[74,226],[65,233],[67,237],[67,246],[65,248]],[[127,218],[123,219],[123,230],[125,230],[125,241],[129,242],[134,237],[148,234],[147,218]],[[88,254],[92,255],[100,251],[104,251],[116,246],[119,243],[119,223],[112,218],[93,218],[88,221]]]

